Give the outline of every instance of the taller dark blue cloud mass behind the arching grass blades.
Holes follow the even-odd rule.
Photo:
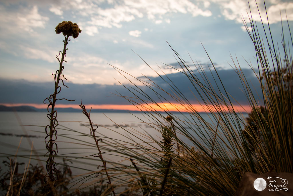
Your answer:
[[[256,99],[259,99],[261,102],[262,98],[259,96],[261,96],[262,91],[260,89],[260,83],[258,81],[258,78],[255,76],[253,71],[249,68],[242,69],[242,71],[249,85],[251,85],[251,89],[254,89],[253,90],[254,97]],[[248,104],[246,96],[243,93],[244,89],[239,79],[239,76],[236,74],[236,72],[233,69],[228,69],[228,70],[217,69],[217,73],[215,70],[205,71],[204,77],[206,77],[206,79],[203,79],[202,72],[198,72],[194,70],[193,73],[195,78],[198,81],[201,81],[203,84],[210,83],[210,85],[212,86],[211,91],[216,93],[218,96],[222,96],[222,93],[223,93],[224,96],[229,97],[232,103],[234,104],[236,104],[237,102],[239,102],[240,104],[245,104],[245,105]],[[219,77],[221,78],[221,81],[217,75],[219,75]],[[163,97],[169,97],[171,102],[172,102],[172,97],[167,95],[167,93],[174,96],[174,92],[178,91],[178,89],[180,90],[180,93],[182,93],[186,97],[186,99],[190,101],[190,103],[196,103],[197,99],[200,100],[201,103],[203,103],[201,97],[206,99],[205,94],[199,90],[200,88],[197,86],[197,84],[191,83],[190,80],[183,73],[180,73],[180,72],[170,73],[170,74],[167,74],[166,76],[162,76],[162,78],[161,77],[148,77],[148,78],[151,81],[149,81],[149,79],[147,78],[144,78],[143,76],[140,77],[139,79],[143,81],[147,81],[151,84],[154,84],[154,86],[158,85],[161,88],[163,88],[164,91],[161,91],[157,88],[154,88],[154,89],[157,90],[157,95],[160,95]],[[171,84],[171,86],[166,81],[168,81],[168,83]],[[172,81],[172,83],[170,81]],[[193,86],[193,84],[195,86]],[[226,95],[224,88],[222,87],[221,84],[223,84],[223,86],[225,87],[225,90],[228,93],[228,95]],[[175,86],[176,88],[173,89],[173,87]],[[218,89],[218,86],[219,86],[219,89]],[[149,91],[144,91],[144,92],[148,93]]]

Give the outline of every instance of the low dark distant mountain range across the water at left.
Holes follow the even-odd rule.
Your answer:
[[[56,108],[58,112],[82,112],[81,109],[75,109],[75,108]],[[0,105],[0,112],[47,112],[47,109],[39,109],[32,106],[22,105],[22,106],[11,106],[7,107],[5,105]],[[92,109],[91,112],[102,112],[102,113],[125,113],[130,110],[107,110],[107,109]],[[134,112],[140,112],[140,111],[132,111]]]

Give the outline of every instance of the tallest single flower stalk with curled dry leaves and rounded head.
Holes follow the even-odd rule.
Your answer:
[[[59,61],[59,70],[56,71],[56,73],[52,73],[54,76],[54,81],[55,81],[55,88],[54,88],[54,93],[51,94],[48,98],[44,100],[49,101],[49,104],[47,106],[48,113],[47,117],[50,120],[50,125],[47,125],[45,128],[47,136],[45,137],[45,142],[46,142],[46,149],[49,153],[48,159],[47,159],[47,164],[46,164],[46,169],[47,169],[47,174],[45,175],[45,182],[48,184],[48,192],[50,194],[56,195],[56,180],[58,180],[58,170],[56,168],[56,162],[55,162],[55,156],[58,153],[58,146],[57,143],[55,142],[57,140],[57,130],[56,127],[59,125],[58,120],[57,120],[57,110],[55,110],[55,104],[57,100],[68,100],[66,98],[57,98],[57,94],[60,93],[61,91],[61,86],[59,86],[59,82],[62,81],[62,85],[64,85],[63,79],[66,79],[64,77],[64,74],[62,73],[64,66],[63,62],[66,62],[64,60],[64,57],[66,56],[66,51],[68,50],[67,44],[70,41],[69,37],[72,36],[73,38],[77,38],[79,33],[81,33],[81,30],[79,29],[78,25],[76,23],[72,23],[71,21],[63,21],[59,23],[56,26],[55,29],[56,33],[63,33],[64,35],[64,47],[63,51],[59,51],[59,55],[56,55],[57,60]],[[61,54],[61,59],[59,59],[59,56]],[[63,79],[61,78],[63,77]],[[66,79],[67,80],[67,79]],[[68,80],[67,80],[68,81]],[[68,88],[68,87],[67,87]],[[68,101],[74,101],[74,100],[68,100]],[[45,154],[45,155],[46,155]],[[45,156],[44,155],[44,156]]]

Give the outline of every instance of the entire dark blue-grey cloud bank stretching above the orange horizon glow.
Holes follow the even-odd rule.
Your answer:
[[[253,71],[251,69],[243,69],[242,71],[246,80],[251,84],[251,88],[255,88],[255,92],[258,95],[261,95],[260,85]],[[236,72],[233,69],[218,70],[218,74],[226,91],[239,103],[247,104],[246,97],[242,92],[243,86]],[[199,73],[195,73],[195,75],[200,78]],[[207,71],[206,75],[213,87],[216,87],[216,84],[220,84],[219,79],[214,81],[212,77],[212,75],[217,76],[215,71]],[[185,75],[182,73],[171,73],[167,74],[167,76],[191,103],[196,103],[194,96],[198,98],[199,96]],[[166,76],[163,76],[163,78],[166,79]],[[166,84],[160,77],[150,77],[150,79],[157,85],[161,86],[164,90],[171,92],[170,86],[168,86],[168,84]],[[133,94],[121,85],[74,84],[69,82],[66,84],[69,88],[62,87],[61,93],[59,93],[59,98],[75,99],[76,101],[68,102],[60,100],[58,102],[60,104],[79,104],[81,99],[83,104],[130,104],[124,98],[113,96],[112,93],[117,94],[118,92],[123,96],[133,97]],[[126,86],[134,87],[130,85]],[[53,81],[37,83],[25,80],[7,80],[0,78],[0,103],[43,103],[43,100],[53,92],[53,88]],[[140,88],[154,100],[159,100],[155,93],[147,86],[141,86]],[[194,95],[190,90],[193,91]],[[158,92],[161,93],[161,95],[164,95],[162,92]],[[256,93],[255,96],[257,96]],[[219,94],[219,92],[217,92],[217,94]],[[233,102],[235,103],[235,101]]]

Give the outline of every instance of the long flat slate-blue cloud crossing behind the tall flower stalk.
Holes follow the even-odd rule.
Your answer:
[[[113,96],[116,90],[127,93],[120,85],[74,84],[64,81],[69,87],[62,87],[59,98],[75,99],[74,102],[59,101],[59,104],[128,104],[126,100]],[[54,84],[54,83],[53,83]],[[0,90],[5,96],[0,97],[0,103],[43,103],[52,94],[52,82],[29,82],[26,80],[6,80],[0,78]]]

